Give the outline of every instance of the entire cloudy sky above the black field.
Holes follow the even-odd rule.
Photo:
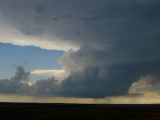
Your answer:
[[[159,5],[158,0],[0,0],[0,94],[158,102]]]

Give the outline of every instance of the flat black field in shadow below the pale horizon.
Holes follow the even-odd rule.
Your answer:
[[[160,105],[0,103],[0,120],[160,120]]]

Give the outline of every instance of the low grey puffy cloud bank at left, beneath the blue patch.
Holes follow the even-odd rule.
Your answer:
[[[10,79],[0,80],[1,94],[23,94],[34,96],[54,96],[58,92],[58,82],[53,78],[38,80],[30,85],[29,72],[23,66],[16,66],[16,72]]]

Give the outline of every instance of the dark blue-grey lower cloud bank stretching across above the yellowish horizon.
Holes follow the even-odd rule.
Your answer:
[[[100,72],[98,67],[89,66],[81,72],[72,73],[60,85],[53,77],[38,80],[32,86],[28,84],[29,72],[26,72],[22,66],[17,66],[14,77],[0,80],[0,93],[86,98],[127,95],[131,84],[140,76],[153,74],[159,70],[160,64],[158,62],[136,65],[114,64],[108,69],[109,75],[106,79],[101,79],[98,76]]]

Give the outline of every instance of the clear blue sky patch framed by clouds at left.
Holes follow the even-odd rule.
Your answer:
[[[58,58],[63,51],[44,50],[33,46],[15,46],[0,44],[0,76],[8,78],[14,75],[15,66],[23,65],[28,71],[35,69],[59,69]]]

